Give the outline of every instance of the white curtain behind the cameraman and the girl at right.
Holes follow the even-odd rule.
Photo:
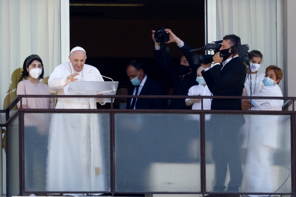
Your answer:
[[[269,65],[284,69],[283,64],[277,65],[276,0],[216,0],[216,14],[217,40],[226,34],[235,34],[242,44],[249,45],[249,51],[261,51],[260,73],[265,73]]]

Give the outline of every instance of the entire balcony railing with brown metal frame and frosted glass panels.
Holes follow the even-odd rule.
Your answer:
[[[39,97],[90,97],[43,96]],[[24,193],[264,194],[295,192],[290,111],[2,110],[7,196]],[[189,98],[189,96],[91,96]],[[209,97],[190,98],[251,98]],[[266,97],[252,97],[265,98]],[[288,102],[286,102],[288,103]]]

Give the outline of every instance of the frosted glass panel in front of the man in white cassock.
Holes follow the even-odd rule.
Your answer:
[[[25,191],[110,191],[109,114],[25,114]]]

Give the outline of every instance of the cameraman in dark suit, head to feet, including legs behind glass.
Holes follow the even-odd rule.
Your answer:
[[[234,34],[223,37],[220,51],[213,57],[214,66],[202,64],[206,84],[214,96],[241,96],[246,68],[238,57],[240,38]],[[241,99],[212,99],[212,110],[241,110]],[[242,115],[211,115],[208,136],[213,139],[215,161],[215,192],[238,192],[242,182],[239,152],[239,130],[245,123]],[[207,137],[207,136],[206,136]],[[230,181],[225,184],[229,169]]]

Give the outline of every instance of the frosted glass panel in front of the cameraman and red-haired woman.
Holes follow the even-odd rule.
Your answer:
[[[217,115],[206,121],[206,190],[291,192],[288,115]],[[209,159],[209,153],[212,158]]]

